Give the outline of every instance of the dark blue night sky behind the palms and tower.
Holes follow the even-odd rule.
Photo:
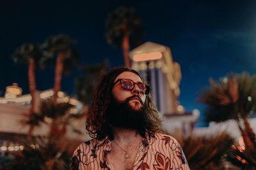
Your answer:
[[[12,82],[28,93],[27,66],[13,64],[10,55],[22,43],[42,43],[49,36],[76,39],[80,64],[122,65],[121,50],[108,45],[105,36],[106,16],[118,6],[134,8],[143,19],[143,42],[171,48],[182,69],[180,103],[187,111],[203,111],[196,98],[210,77],[256,71],[256,1],[4,1],[0,96]],[[53,68],[36,71],[39,90],[52,88],[53,73]],[[63,77],[62,90],[74,95],[74,78],[83,74],[73,69]]]

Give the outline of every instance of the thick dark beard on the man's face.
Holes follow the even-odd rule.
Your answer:
[[[118,101],[114,96],[106,110],[106,120],[110,125],[123,129],[135,129],[138,132],[145,131],[146,111],[145,106],[141,102],[141,108],[135,110],[129,104],[129,101],[136,96],[131,96],[125,101]]]

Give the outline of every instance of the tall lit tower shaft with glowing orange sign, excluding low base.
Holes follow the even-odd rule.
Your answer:
[[[152,96],[162,115],[184,113],[179,103],[180,65],[173,62],[170,48],[147,42],[130,52],[132,68],[152,87]]]

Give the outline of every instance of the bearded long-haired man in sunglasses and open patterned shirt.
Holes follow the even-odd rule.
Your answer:
[[[189,169],[179,143],[163,134],[150,87],[133,69],[102,76],[86,129],[93,139],[77,147],[71,169]]]

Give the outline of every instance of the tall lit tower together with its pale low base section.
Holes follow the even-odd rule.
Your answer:
[[[173,61],[170,48],[147,42],[129,54],[132,69],[138,71],[152,87],[152,96],[164,120],[164,129],[189,136],[200,112],[185,111],[179,102],[181,71],[180,65]]]

